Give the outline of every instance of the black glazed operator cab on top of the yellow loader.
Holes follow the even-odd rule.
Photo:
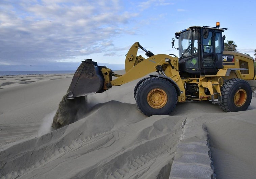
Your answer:
[[[175,33],[179,40],[179,71],[182,76],[214,75],[222,66],[224,39],[219,26],[193,26]],[[174,47],[174,38],[172,41]]]

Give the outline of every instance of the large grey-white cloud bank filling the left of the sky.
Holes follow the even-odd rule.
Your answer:
[[[35,64],[106,52],[138,14],[118,0],[0,2],[0,62]],[[110,53],[111,54],[111,53]]]

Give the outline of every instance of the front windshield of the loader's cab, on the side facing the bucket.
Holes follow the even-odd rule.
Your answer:
[[[179,57],[186,58],[197,54],[198,31],[187,30],[179,34]]]

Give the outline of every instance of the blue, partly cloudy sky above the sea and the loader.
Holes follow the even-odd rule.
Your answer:
[[[134,42],[178,56],[175,32],[216,22],[228,28],[225,42],[255,58],[255,7],[255,0],[0,0],[0,71],[76,70],[84,59],[124,69]]]

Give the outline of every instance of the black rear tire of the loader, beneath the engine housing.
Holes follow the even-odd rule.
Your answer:
[[[239,104],[239,101],[235,102],[234,99],[235,95],[239,91],[241,92],[241,104]],[[222,85],[221,95],[222,103],[219,103],[219,106],[223,111],[245,111],[250,106],[252,101],[252,88],[247,81],[238,78],[232,78]],[[244,100],[242,98],[244,98]]]

